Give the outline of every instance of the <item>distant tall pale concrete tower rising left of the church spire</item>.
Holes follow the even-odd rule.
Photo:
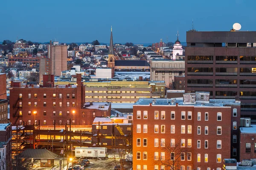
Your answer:
[[[50,74],[61,76],[61,71],[67,70],[67,45],[59,45],[50,41],[48,57],[50,59]]]

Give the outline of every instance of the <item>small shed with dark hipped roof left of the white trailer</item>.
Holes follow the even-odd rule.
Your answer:
[[[47,149],[26,149],[18,155],[18,158],[40,159],[41,167],[53,167],[57,157],[57,154]]]

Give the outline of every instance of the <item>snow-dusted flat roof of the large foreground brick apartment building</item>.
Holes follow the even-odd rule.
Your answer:
[[[235,99],[210,99],[209,103],[195,102],[192,104],[184,104],[183,97],[172,98],[172,99],[155,99],[156,103],[154,105],[169,105],[169,102],[176,101],[178,105],[190,105],[190,106],[200,106],[200,107],[226,107],[226,105],[240,105],[236,103]],[[134,105],[149,105],[153,102],[153,98],[150,99],[139,99]]]

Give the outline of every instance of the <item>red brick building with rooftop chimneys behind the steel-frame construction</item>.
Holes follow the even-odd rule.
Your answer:
[[[10,122],[13,125],[23,122],[28,125],[92,125],[96,116],[110,116],[109,103],[90,108],[93,103],[84,102],[81,74],[77,74],[76,78],[77,85],[64,86],[54,85],[54,75],[44,75],[43,86],[24,88],[20,87],[20,82],[12,82]]]

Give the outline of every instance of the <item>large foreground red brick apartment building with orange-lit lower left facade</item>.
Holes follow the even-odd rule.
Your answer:
[[[236,147],[231,139],[239,134],[239,119],[239,101],[209,99],[209,92],[139,99],[134,104],[133,169],[169,170],[173,162],[179,170],[221,170],[222,160],[232,157]]]

